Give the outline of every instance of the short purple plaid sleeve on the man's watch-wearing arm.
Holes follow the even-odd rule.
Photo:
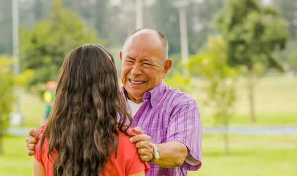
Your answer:
[[[202,123],[195,100],[181,102],[175,107],[166,137],[166,142],[181,142],[187,146],[188,156],[182,168],[197,171],[201,167]]]

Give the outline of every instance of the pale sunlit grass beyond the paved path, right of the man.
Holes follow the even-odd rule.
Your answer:
[[[195,79],[197,85],[203,85],[203,80]],[[191,94],[199,105],[203,124],[213,124],[212,108],[203,105],[206,96],[199,89]],[[269,76],[261,78],[255,85],[256,123],[279,124],[297,123],[297,78],[286,76]],[[240,79],[237,85],[237,102],[235,116],[231,124],[250,123],[249,101],[245,79]]]

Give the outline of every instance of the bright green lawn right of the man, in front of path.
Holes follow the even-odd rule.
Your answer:
[[[296,176],[297,135],[230,135],[230,155],[222,137],[204,135],[202,167],[190,176]]]

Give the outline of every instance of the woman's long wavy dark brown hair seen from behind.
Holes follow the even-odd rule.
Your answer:
[[[54,176],[98,176],[118,148],[132,117],[119,91],[114,59],[101,46],[86,44],[65,58],[55,102],[41,141],[49,143],[48,157],[58,156]]]

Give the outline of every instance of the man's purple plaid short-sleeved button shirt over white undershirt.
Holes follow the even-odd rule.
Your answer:
[[[127,97],[124,87],[120,90]],[[201,162],[202,124],[196,101],[163,81],[146,92],[143,100],[132,127],[141,127],[155,144],[174,141],[185,144],[191,156]],[[201,163],[192,166],[186,161],[181,167],[169,169],[148,164],[150,171],[146,176],[188,176],[188,171],[197,171],[201,167]]]

